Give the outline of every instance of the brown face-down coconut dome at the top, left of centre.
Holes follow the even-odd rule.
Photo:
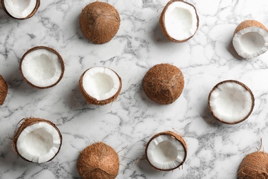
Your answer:
[[[93,43],[102,44],[111,41],[119,26],[118,11],[109,3],[100,1],[89,3],[80,14],[82,34]]]

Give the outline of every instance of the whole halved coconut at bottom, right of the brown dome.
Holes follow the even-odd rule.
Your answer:
[[[155,134],[150,138],[145,148],[145,157],[148,163],[161,171],[179,168],[185,162],[186,156],[186,142],[173,131]]]

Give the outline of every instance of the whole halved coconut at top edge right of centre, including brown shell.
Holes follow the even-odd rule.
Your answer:
[[[159,25],[170,41],[178,43],[188,41],[199,28],[197,10],[185,1],[169,1],[161,12]]]

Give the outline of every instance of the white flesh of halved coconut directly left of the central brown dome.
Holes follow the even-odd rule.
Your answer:
[[[85,92],[98,101],[111,98],[120,88],[120,79],[107,67],[92,67],[82,77]]]

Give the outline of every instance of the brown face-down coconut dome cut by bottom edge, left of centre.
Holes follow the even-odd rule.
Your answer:
[[[113,179],[119,171],[118,154],[104,143],[89,145],[80,152],[77,169],[82,178]]]

